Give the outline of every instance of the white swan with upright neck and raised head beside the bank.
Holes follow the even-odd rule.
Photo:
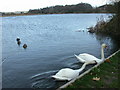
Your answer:
[[[86,62],[89,64],[100,63],[105,59],[104,48],[106,47],[107,47],[106,44],[101,45],[101,59],[98,59],[95,56],[87,54],[87,53],[79,54],[78,56],[75,55],[75,57],[82,63],[86,63]]]

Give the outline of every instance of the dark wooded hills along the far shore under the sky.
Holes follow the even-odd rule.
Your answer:
[[[64,14],[64,13],[115,13],[112,4],[106,4],[99,7],[92,7],[88,3],[79,3],[76,5],[56,5],[40,9],[30,9],[28,12],[4,13],[2,16],[9,15],[33,15],[33,14]]]

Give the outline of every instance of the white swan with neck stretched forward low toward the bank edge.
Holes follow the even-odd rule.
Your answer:
[[[82,67],[80,69],[77,70],[73,70],[70,68],[64,68],[61,69],[58,73],[56,73],[55,75],[51,76],[52,78],[55,78],[56,80],[72,80],[74,78],[76,78],[77,76],[79,76],[79,73],[85,68],[85,66],[87,65],[87,63],[84,63],[82,65]]]

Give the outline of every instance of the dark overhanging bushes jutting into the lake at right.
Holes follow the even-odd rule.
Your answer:
[[[89,27],[90,33],[105,34],[120,40],[120,1],[113,4],[112,10],[115,14],[110,16],[109,20],[105,21],[102,17],[98,19],[95,26]]]

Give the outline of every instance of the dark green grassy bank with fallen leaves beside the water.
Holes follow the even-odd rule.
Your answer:
[[[120,52],[64,89],[120,88]],[[98,80],[94,80],[97,77]]]

